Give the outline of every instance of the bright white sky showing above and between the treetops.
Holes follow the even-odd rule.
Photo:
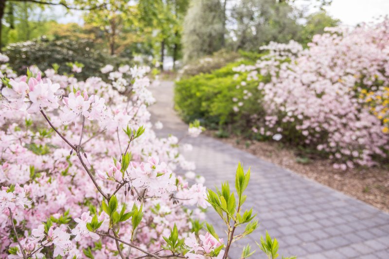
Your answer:
[[[314,2],[314,0],[296,0],[296,4],[299,6],[310,1]],[[53,13],[61,14],[57,16],[60,23],[82,23],[80,12],[64,16],[65,11],[61,7],[54,9]],[[389,0],[333,0],[332,4],[325,9],[329,15],[340,19],[344,25],[355,26],[361,22],[370,22],[374,21],[374,18],[389,15]],[[317,9],[313,6],[309,8],[309,12],[315,11]]]

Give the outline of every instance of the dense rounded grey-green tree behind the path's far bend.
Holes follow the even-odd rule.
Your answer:
[[[219,0],[193,0],[184,20],[184,62],[212,54],[222,47],[223,7]]]

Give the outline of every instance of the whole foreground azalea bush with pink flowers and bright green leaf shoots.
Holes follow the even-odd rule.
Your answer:
[[[212,191],[203,177],[174,173],[195,165],[179,139],[153,131],[163,125],[149,120],[149,69],[106,66],[109,83],[34,69],[1,74],[1,258],[227,259],[231,244],[257,228],[244,209],[250,172],[240,164],[236,195],[228,183]],[[195,121],[188,136],[202,130]],[[204,223],[207,207],[227,239]],[[278,256],[268,234],[259,245]],[[242,258],[252,253],[246,246]]]

